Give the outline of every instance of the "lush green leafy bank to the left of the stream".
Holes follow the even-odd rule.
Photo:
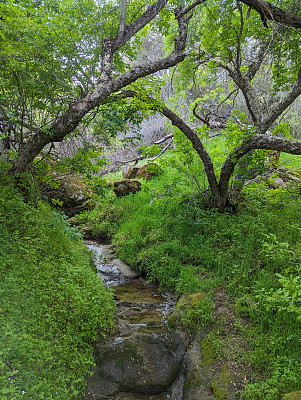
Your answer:
[[[114,304],[78,233],[0,178],[0,399],[81,399]]]

